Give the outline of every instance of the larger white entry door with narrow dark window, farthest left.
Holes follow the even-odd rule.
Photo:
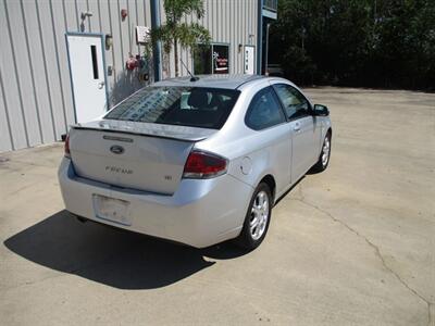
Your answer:
[[[92,121],[107,111],[101,38],[100,35],[66,35],[77,123]]]

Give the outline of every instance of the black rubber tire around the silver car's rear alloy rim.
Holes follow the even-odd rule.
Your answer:
[[[254,213],[252,212],[252,206],[256,202],[257,203],[259,202],[258,196],[261,192],[265,193],[265,196],[268,198],[268,209],[265,210],[268,212],[268,217],[266,217],[266,221],[264,223],[262,222],[262,224],[261,224],[261,225],[264,225],[261,236],[259,238],[256,238],[256,236],[252,235],[250,224],[254,220],[254,216],[253,216]],[[261,195],[260,195],[260,197],[261,197]],[[272,205],[273,205],[273,199],[272,199],[271,189],[268,184],[261,183],[257,187],[256,191],[253,191],[252,198],[249,202],[248,211],[245,216],[244,227],[243,227],[241,233],[238,236],[238,238],[236,238],[237,246],[239,246],[244,249],[247,249],[247,250],[253,250],[260,246],[260,243],[265,238],[265,235],[268,234],[269,224],[271,223]],[[260,217],[260,218],[262,220],[263,217]],[[260,224],[258,227],[259,227],[259,231],[260,231],[260,229],[262,229]]]

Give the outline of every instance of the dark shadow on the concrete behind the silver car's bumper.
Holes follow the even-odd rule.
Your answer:
[[[67,211],[4,241],[12,252],[39,265],[120,289],[153,289],[179,281],[216,262],[246,254],[232,243],[195,249],[144,235],[83,224]]]

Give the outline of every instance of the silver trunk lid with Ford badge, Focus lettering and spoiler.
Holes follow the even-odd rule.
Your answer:
[[[172,195],[194,143],[215,131],[125,121],[78,124],[70,131],[71,159],[80,177]]]

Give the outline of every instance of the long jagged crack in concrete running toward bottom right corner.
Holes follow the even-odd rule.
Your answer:
[[[348,224],[346,224],[345,222],[343,222],[341,220],[335,217],[333,214],[331,214],[328,211],[325,211],[324,209],[310,203],[306,200],[306,197],[302,192],[302,187],[299,186],[299,193],[301,198],[295,198],[294,200],[299,201],[323,214],[325,214],[326,216],[328,216],[331,220],[333,220],[335,223],[340,224],[341,226],[344,226],[345,228],[347,228],[349,231],[351,231],[352,234],[357,235],[358,237],[362,238],[373,250],[375,255],[381,260],[382,265],[384,266],[385,269],[387,269],[390,274],[393,274],[396,279],[403,286],[406,287],[411,293],[413,293],[415,297],[418,297],[420,300],[424,301],[424,303],[427,305],[427,326],[435,326],[435,319],[432,318],[432,312],[431,312],[431,306],[433,306],[435,303],[431,302],[428,299],[424,298],[422,294],[420,294],[415,289],[411,288],[401,277],[399,274],[397,274],[391,267],[388,266],[388,264],[386,263],[384,256],[381,253],[380,248],[374,244],[371,240],[369,240],[365,236],[361,235],[358,230],[356,230],[355,228],[352,228],[351,226],[349,226]]]

